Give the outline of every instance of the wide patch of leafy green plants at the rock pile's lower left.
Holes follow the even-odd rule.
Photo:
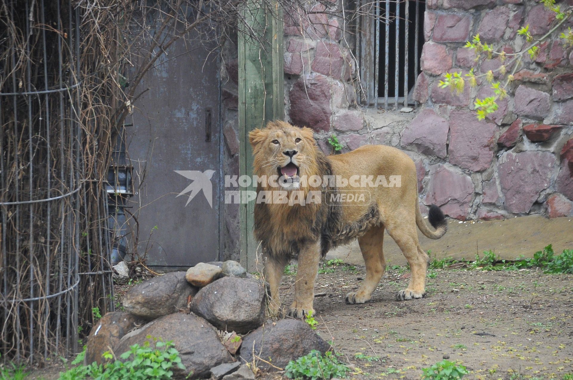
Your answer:
[[[160,339],[152,338],[155,346],[152,347],[149,341],[143,346],[133,345],[129,351],[120,355],[121,361],[97,365],[93,362],[91,365],[79,365],[72,367],[65,372],[60,373],[59,380],[136,380],[136,379],[154,379],[167,380],[173,377],[175,367],[185,370],[181,363],[179,351],[173,345],[173,342],[163,342]],[[77,365],[84,361],[85,351],[72,362]],[[113,359],[109,352],[104,353],[103,357],[107,360]]]

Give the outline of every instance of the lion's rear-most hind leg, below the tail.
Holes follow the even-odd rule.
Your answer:
[[[402,219],[406,220],[406,219]],[[388,226],[388,234],[394,239],[402,254],[410,264],[410,283],[406,289],[398,291],[399,301],[423,298],[426,296],[426,269],[428,256],[418,243],[418,233],[414,221]]]

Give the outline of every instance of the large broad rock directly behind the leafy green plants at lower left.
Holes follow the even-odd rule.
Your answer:
[[[125,335],[114,351],[120,355],[132,345],[152,342],[152,339],[146,338],[148,336],[174,343],[185,366],[185,370],[174,370],[175,378],[183,379],[189,373],[193,373],[191,379],[203,378],[209,375],[211,368],[233,361],[219,341],[217,330],[209,322],[197,315],[182,312],[162,316]]]

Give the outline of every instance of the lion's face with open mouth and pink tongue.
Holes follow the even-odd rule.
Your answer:
[[[300,188],[300,177],[316,173],[316,142],[309,128],[273,121],[249,133],[254,152],[254,173],[278,176],[282,189]]]

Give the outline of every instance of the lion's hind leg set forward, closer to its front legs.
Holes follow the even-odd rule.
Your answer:
[[[346,303],[365,303],[372,299],[372,293],[378,286],[384,270],[386,270],[386,260],[382,251],[384,242],[384,226],[374,226],[363,236],[358,238],[360,251],[366,264],[366,279],[355,292],[346,295]]]

